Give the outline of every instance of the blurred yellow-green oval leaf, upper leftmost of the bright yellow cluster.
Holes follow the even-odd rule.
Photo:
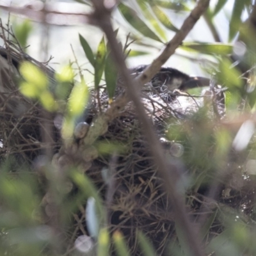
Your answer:
[[[36,86],[37,90],[43,90],[48,86],[47,76],[29,61],[24,61],[20,65],[20,74],[28,83]]]

